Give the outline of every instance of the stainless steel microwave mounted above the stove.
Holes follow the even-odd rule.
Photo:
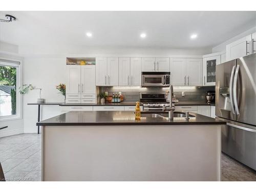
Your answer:
[[[169,87],[170,72],[142,72],[142,87]]]

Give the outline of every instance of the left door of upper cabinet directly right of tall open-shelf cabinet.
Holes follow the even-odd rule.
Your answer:
[[[108,76],[106,57],[96,57],[96,86],[106,86]]]

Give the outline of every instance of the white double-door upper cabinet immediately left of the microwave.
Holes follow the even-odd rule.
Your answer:
[[[119,58],[119,86],[141,86],[141,58]]]

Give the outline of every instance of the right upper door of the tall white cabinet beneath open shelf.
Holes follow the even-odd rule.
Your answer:
[[[81,66],[81,93],[96,94],[95,66]]]

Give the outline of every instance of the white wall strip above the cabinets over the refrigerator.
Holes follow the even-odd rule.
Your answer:
[[[212,53],[221,52],[221,51],[226,51],[226,45],[228,45],[228,44],[230,44],[231,42],[236,41],[236,40],[238,40],[238,39],[240,39],[240,38],[242,38],[242,37],[245,37],[245,36],[247,36],[247,35],[249,35],[249,34],[251,34],[251,33],[254,33],[254,32],[256,32],[256,27],[253,27],[253,28],[251,28],[251,29],[249,29],[249,30],[247,30],[247,31],[245,31],[245,32],[243,32],[243,33],[237,35],[237,36],[234,36],[234,37],[232,37],[232,38],[226,40],[226,41],[223,42],[222,44],[213,47],[213,48],[212,48]]]

